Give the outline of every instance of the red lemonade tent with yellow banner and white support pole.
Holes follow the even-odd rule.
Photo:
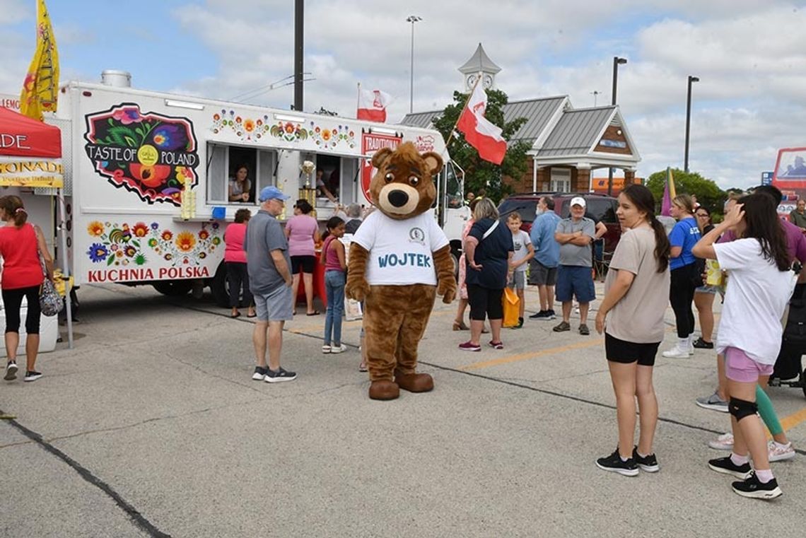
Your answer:
[[[61,130],[0,107],[0,186],[56,188],[56,199],[59,202],[56,234],[60,235],[60,261],[67,298],[67,332],[69,347],[73,348],[70,272],[67,265],[67,238],[64,234],[64,197],[61,192],[64,185],[62,173]]]

